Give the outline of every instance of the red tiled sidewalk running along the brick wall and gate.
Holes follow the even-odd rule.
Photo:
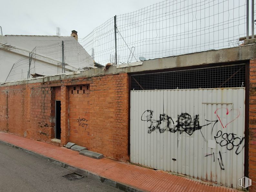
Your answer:
[[[0,132],[0,140],[143,191],[236,191],[108,158],[85,157],[65,147],[7,133]]]

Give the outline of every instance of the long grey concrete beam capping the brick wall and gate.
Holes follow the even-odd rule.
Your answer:
[[[171,69],[185,66],[200,66],[205,64],[218,64],[218,63],[231,63],[236,61],[245,61],[256,58],[256,44],[242,45],[232,48],[210,50],[204,52],[197,52],[191,54],[185,54],[180,56],[170,56],[158,59],[152,59],[143,61],[142,65],[128,66],[123,68],[117,68],[117,66],[110,66],[107,70],[100,68],[94,68],[90,70],[72,72],[69,74],[62,74],[56,76],[38,77],[36,79],[29,79],[23,81],[15,81],[2,83],[0,86],[11,86],[29,83],[41,83],[48,81],[57,81],[70,78],[79,77],[93,77],[104,76],[107,74],[118,73],[135,73],[143,71],[153,71],[161,69]]]

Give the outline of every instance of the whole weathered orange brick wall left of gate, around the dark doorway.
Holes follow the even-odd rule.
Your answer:
[[[61,101],[61,145],[68,141],[128,160],[128,75],[0,87],[0,130],[52,143]]]

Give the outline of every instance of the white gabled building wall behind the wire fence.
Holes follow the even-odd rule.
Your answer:
[[[69,50],[72,50],[72,47],[78,47],[76,49],[77,56],[74,56],[74,53],[68,52],[66,53],[66,60],[65,63],[70,65],[74,65],[74,67],[68,67],[72,70],[77,70],[77,66],[91,66],[93,65],[92,58],[90,55],[82,48],[82,46],[74,39],[74,37],[71,36],[37,36],[37,35],[0,35],[0,82],[4,82],[6,77],[8,76],[8,73],[10,72],[12,66],[14,63],[16,63],[19,59],[22,59],[24,57],[28,57],[29,53],[36,47],[36,46],[46,46],[44,49],[47,49],[47,45],[52,45],[56,43],[60,43],[61,41],[69,41],[67,46],[69,46]],[[14,46],[15,49],[6,50],[2,44],[11,45]],[[61,53],[61,47],[56,47],[56,49],[60,48],[58,50]],[[68,47],[67,47],[68,48]],[[50,49],[49,49],[50,50]],[[47,50],[46,50],[47,51]],[[55,51],[55,50],[50,50]],[[69,55],[68,55],[69,54]],[[44,56],[44,53],[41,52],[41,55]],[[81,55],[83,57],[88,58],[83,63],[79,63],[79,60],[81,60]],[[47,56],[47,54],[46,54]],[[51,58],[51,56],[47,56]],[[47,68],[47,63],[50,61],[50,59],[42,59],[40,57],[36,57],[39,59],[37,63],[40,65],[46,65],[46,67],[36,67],[36,73],[43,74],[45,70],[48,70],[52,72],[52,75],[56,75],[54,71],[58,71],[57,66],[49,65],[50,68]],[[41,61],[40,61],[41,60]],[[52,63],[57,64],[58,62],[61,62],[61,55],[58,56],[58,59],[53,58]],[[77,65],[76,65],[77,64]],[[17,69],[18,70],[18,69]],[[60,68],[61,71],[61,68]],[[49,74],[49,73],[48,73]],[[22,72],[20,70],[20,74],[22,75]],[[18,75],[18,76],[19,76]],[[51,75],[51,74],[49,74]]]

